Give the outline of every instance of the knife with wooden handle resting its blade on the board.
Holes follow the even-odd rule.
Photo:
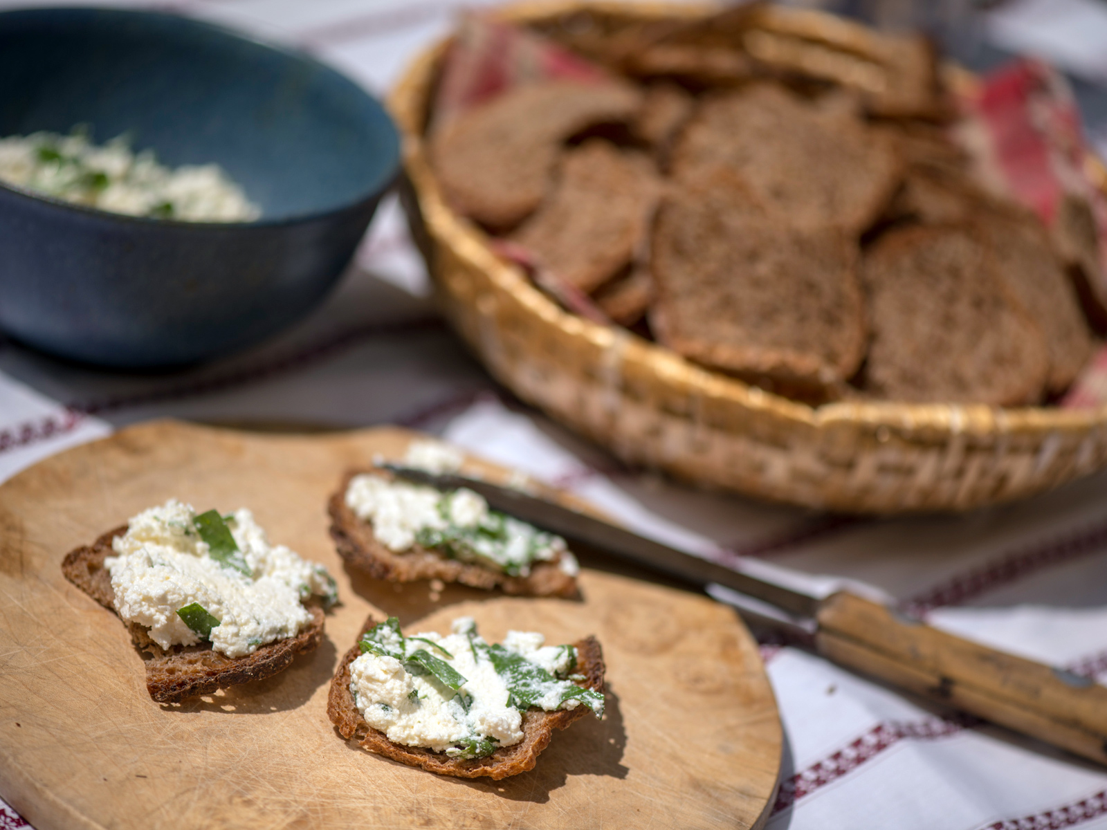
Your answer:
[[[948,634],[839,591],[811,596],[646,539],[513,487],[456,474],[381,465],[439,490],[468,488],[488,505],[569,540],[712,590],[752,622],[785,632],[828,660],[1107,765],[1107,687]]]

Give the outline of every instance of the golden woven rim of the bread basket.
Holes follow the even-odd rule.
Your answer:
[[[683,17],[693,19],[723,8],[717,3],[620,2],[619,0],[524,0],[497,8],[493,14],[500,20],[527,23],[571,11],[596,10],[644,18]],[[788,9],[788,13],[810,20],[835,21],[840,19],[811,9]],[[695,364],[660,343],[639,338],[621,326],[608,326],[586,320],[563,310],[539,290],[520,267],[511,263],[490,247],[489,236],[474,222],[448,206],[426,157],[423,124],[428,104],[423,91],[435,71],[452,34],[423,50],[408,65],[387,98],[387,106],[402,134],[404,167],[417,193],[424,221],[434,228],[433,236],[448,239],[454,253],[490,276],[503,291],[516,295],[536,317],[592,341],[610,346],[614,339],[625,338],[622,345],[624,359],[637,356],[650,364],[660,375],[680,376],[704,397],[723,397],[752,412],[772,414],[818,432],[837,425],[849,424],[878,435],[894,435],[907,430],[912,434],[935,432],[946,435],[991,435],[997,433],[1043,433],[1053,429],[1089,429],[1107,425],[1107,404],[1094,408],[1065,409],[1055,406],[1000,407],[972,403],[906,403],[897,401],[837,401],[817,406],[793,401],[743,381]],[[971,82],[974,75],[956,66],[948,68],[954,75]],[[1098,159],[1088,164],[1104,183],[1107,175]]]

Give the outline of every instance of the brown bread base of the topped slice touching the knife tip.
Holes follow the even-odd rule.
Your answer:
[[[348,498],[348,495],[359,477],[369,477],[382,483],[394,481],[391,474],[383,469],[352,470],[343,477],[338,491],[331,496],[328,504],[331,538],[334,539],[339,556],[351,568],[363,571],[374,579],[394,582],[439,579],[444,582],[461,582],[486,590],[499,588],[509,594],[566,598],[577,595],[577,560],[561,544],[555,543],[557,549],[550,551],[548,559],[537,559],[519,568],[504,569],[495,567],[487,559],[464,561],[456,557],[452,558],[442,546],[423,544],[416,538],[406,539],[402,535],[396,537],[394,531],[384,532],[382,539],[382,528],[374,527],[373,521],[361,518],[351,507],[351,498]],[[362,481],[366,479],[362,478]],[[415,485],[404,486],[416,488]],[[445,494],[439,494],[443,495]],[[417,537],[417,533],[413,536]],[[563,544],[563,540],[561,541]]]

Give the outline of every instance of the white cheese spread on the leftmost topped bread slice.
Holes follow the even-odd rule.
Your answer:
[[[211,647],[240,657],[308,625],[302,600],[334,600],[327,570],[283,544],[270,546],[246,508],[225,517],[237,567],[213,558],[196,518],[190,505],[176,499],[145,510],[113,540],[117,556],[104,560],[120,616],[148,627],[163,649],[203,640],[177,613],[193,603],[218,621],[208,635]]]

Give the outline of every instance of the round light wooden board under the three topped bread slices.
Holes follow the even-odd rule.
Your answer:
[[[509,598],[349,573],[327,497],[348,467],[414,434],[273,436],[158,422],[71,449],[0,487],[0,795],[53,828],[745,828],[764,822],[780,725],[756,644],[703,596],[584,569],[582,601]],[[489,477],[503,476],[477,463]],[[323,562],[342,604],[323,645],[267,681],[179,705],[146,693],[120,620],[62,577],[65,553],[169,497],[250,507],[273,542]],[[339,655],[370,612],[448,632],[472,614],[554,643],[594,633],[608,713],[535,770],[432,775],[346,744],[327,718]]]

